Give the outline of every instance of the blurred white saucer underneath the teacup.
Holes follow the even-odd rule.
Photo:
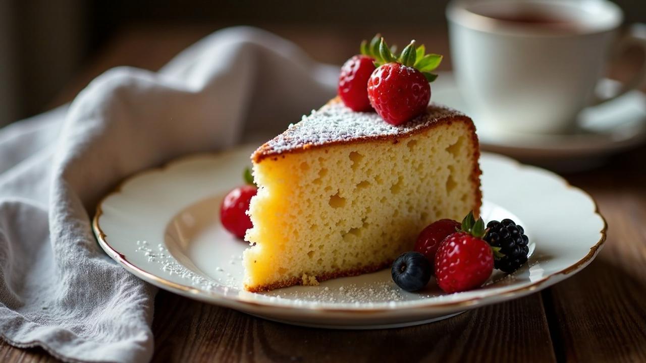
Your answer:
[[[612,79],[603,79],[598,94],[612,96],[620,85]],[[452,72],[441,73],[433,83],[432,101],[470,114]],[[570,134],[493,132],[477,117],[474,123],[483,150],[555,171],[583,171],[646,141],[646,95],[633,90],[602,105],[584,109],[579,114],[578,129]]]

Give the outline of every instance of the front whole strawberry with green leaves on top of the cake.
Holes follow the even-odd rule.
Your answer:
[[[431,99],[430,82],[437,74],[430,71],[442,61],[438,54],[424,54],[424,45],[415,47],[415,41],[395,57],[381,38],[379,49],[373,48],[377,69],[368,80],[370,105],[386,122],[401,125],[421,114]]]

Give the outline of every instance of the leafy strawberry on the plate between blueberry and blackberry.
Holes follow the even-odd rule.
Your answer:
[[[450,234],[435,254],[437,285],[447,293],[479,287],[494,271],[492,247],[483,240],[485,222],[475,221],[471,212],[462,221],[462,230]]]

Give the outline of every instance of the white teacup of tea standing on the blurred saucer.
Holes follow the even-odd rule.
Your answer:
[[[607,101],[594,90],[611,52],[646,50],[645,25],[615,42],[623,14],[607,0],[453,0],[446,15],[469,111],[497,130],[568,132],[581,109]],[[645,80],[646,65],[613,98]]]

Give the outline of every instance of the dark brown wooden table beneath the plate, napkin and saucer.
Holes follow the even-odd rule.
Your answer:
[[[54,104],[73,98],[107,68],[159,68],[210,31],[208,27],[125,30],[79,72]],[[289,30],[281,31],[289,37]],[[293,39],[305,43],[321,37],[329,50],[347,49],[342,57],[350,54],[353,45],[341,33],[335,34],[298,32]],[[446,41],[433,44],[447,51]],[[329,54],[337,53],[319,50],[315,56],[338,60]],[[627,68],[622,65],[614,73],[621,76]],[[646,147],[616,156],[601,169],[566,178],[596,199],[610,228],[598,258],[554,287],[433,324],[374,331],[288,326],[162,290],[155,300],[153,360],[646,362]],[[571,223],[576,223],[576,216]],[[55,359],[42,349],[0,343],[0,361],[14,360]]]

